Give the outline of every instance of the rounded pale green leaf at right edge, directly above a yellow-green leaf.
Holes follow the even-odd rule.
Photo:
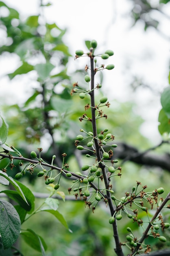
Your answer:
[[[170,86],[166,87],[161,94],[161,105],[168,119],[170,119]]]

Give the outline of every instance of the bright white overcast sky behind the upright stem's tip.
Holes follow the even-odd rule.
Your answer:
[[[19,11],[22,18],[39,13],[40,0],[4,0],[6,4]],[[168,86],[168,68],[170,59],[170,42],[163,38],[155,29],[149,28],[144,32],[144,24],[137,23],[131,28],[130,10],[131,0],[49,0],[52,6],[44,10],[47,21],[61,28],[67,28],[64,37],[71,54],[76,49],[86,51],[85,40],[96,39],[99,50],[112,49],[114,56],[107,63],[113,63],[115,69],[105,74],[104,85],[107,90],[113,88],[110,101],[132,100],[137,103],[137,112],[146,120],[142,126],[142,133],[153,141],[160,139],[157,125],[158,114],[161,109],[159,93]],[[150,2],[159,2],[151,0]],[[46,1],[47,3],[47,1]],[[170,13],[170,4],[164,11]],[[161,20],[159,29],[168,35],[170,20],[156,13]],[[168,35],[170,37],[170,34]],[[2,59],[0,60],[0,64]],[[86,63],[85,63],[86,64]],[[79,59],[70,58],[70,72],[81,65]],[[84,63],[83,63],[84,65]],[[108,76],[106,78],[106,75]],[[138,89],[132,93],[130,89],[131,77],[143,79],[147,88]],[[7,79],[3,80],[7,83]],[[155,143],[154,143],[155,144]]]

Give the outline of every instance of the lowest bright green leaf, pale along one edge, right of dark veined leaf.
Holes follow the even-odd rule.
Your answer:
[[[30,247],[45,256],[47,245],[41,236],[37,235],[32,229],[26,229],[26,231],[22,231],[20,234]]]

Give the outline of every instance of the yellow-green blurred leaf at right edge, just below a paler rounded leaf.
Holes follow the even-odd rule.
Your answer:
[[[163,109],[161,109],[159,112],[158,121],[160,123],[158,126],[158,130],[159,130],[160,134],[163,135],[163,133],[165,133],[165,132],[169,133],[170,132],[170,119],[168,119],[168,117]]]

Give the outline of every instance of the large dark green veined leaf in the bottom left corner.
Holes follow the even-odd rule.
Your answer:
[[[0,234],[4,249],[13,245],[20,235],[20,216],[12,204],[5,200],[0,200]]]

